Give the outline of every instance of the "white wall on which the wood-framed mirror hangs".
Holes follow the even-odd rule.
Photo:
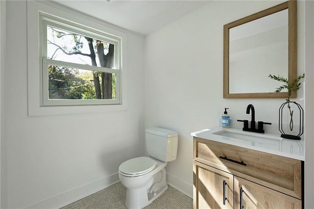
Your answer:
[[[250,119],[245,114],[248,104],[255,106],[256,120],[274,123],[277,129],[284,99],[223,99],[223,25],[280,2],[212,1],[145,39],[145,126],[179,132],[178,157],[166,167],[167,181],[189,196],[192,131],[219,125],[224,107],[230,108],[232,125],[241,125],[237,119]],[[304,55],[302,4],[298,3],[299,57]],[[301,58],[298,75],[303,72]],[[298,97],[303,97],[303,89]]]

